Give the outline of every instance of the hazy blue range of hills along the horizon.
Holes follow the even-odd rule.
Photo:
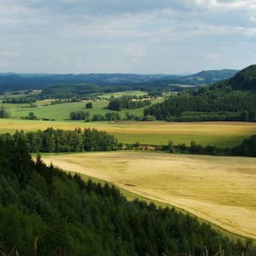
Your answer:
[[[211,84],[232,77],[237,70],[209,70],[195,75],[136,75],[136,74],[0,74],[0,92],[27,89],[43,89],[48,86],[97,84],[98,86],[120,86],[157,83],[188,84],[197,86]]]

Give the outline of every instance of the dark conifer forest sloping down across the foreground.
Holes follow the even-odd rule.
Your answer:
[[[0,138],[0,230],[2,255],[256,254],[175,209],[33,162],[21,138]]]

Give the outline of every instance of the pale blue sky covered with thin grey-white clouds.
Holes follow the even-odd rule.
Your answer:
[[[256,64],[256,0],[0,0],[0,73],[189,74]]]

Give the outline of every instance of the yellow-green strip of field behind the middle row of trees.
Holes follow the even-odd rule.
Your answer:
[[[96,128],[108,131],[119,142],[140,142],[148,145],[165,145],[171,139],[175,144],[196,141],[203,146],[235,147],[244,138],[256,133],[256,123],[245,122],[205,122],[205,123],[168,123],[168,122],[95,122],[79,121],[42,121],[42,120],[0,120],[0,133],[23,130],[46,130],[48,127],[75,130],[75,127]]]

